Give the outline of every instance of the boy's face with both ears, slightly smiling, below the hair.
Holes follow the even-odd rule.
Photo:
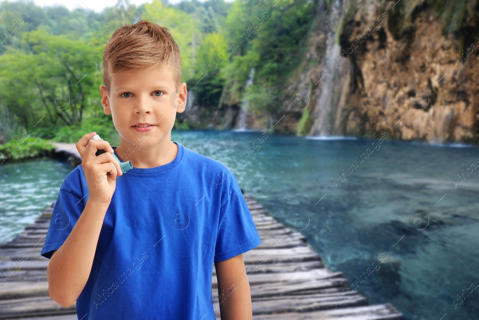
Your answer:
[[[186,106],[186,83],[175,89],[169,66],[129,71],[111,78],[110,94],[100,86],[105,114],[112,114],[114,126],[121,137],[130,144],[143,141],[148,147],[170,137],[176,112]],[[141,128],[136,125],[149,124]],[[148,139],[143,140],[145,133]]]

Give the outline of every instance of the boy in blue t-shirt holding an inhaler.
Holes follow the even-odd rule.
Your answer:
[[[103,111],[121,143],[92,132],[76,144],[82,163],[60,188],[41,252],[50,297],[77,301],[82,320],[214,320],[214,263],[221,318],[252,319],[242,253],[261,239],[235,175],[171,141],[187,91],[168,29],[122,26],[103,68]],[[112,154],[134,168],[123,173]]]

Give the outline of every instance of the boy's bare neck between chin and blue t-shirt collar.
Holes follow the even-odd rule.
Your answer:
[[[135,168],[154,168],[173,161],[176,158],[176,154],[178,154],[178,146],[171,141],[170,136],[148,147],[137,143],[132,145],[130,142],[122,141],[115,148],[115,151],[120,160],[130,160]]]

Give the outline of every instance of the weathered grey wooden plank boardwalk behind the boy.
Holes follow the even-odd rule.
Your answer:
[[[262,240],[260,246],[243,253],[247,273],[252,271],[248,280],[254,320],[403,319],[391,304],[369,305],[357,292],[340,300],[338,295],[349,287],[343,274],[325,268],[303,235],[267,215],[251,195],[243,196]],[[63,308],[48,296],[49,260],[40,251],[54,205],[55,202],[23,233],[0,245],[0,319],[77,319],[75,304]],[[19,259],[23,262],[19,263]],[[220,319],[217,295],[213,269],[213,308]]]

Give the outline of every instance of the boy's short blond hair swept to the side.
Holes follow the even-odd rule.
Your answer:
[[[180,50],[168,28],[140,20],[113,33],[103,51],[103,84],[110,93],[111,77],[125,71],[170,66],[175,89],[181,84]]]

